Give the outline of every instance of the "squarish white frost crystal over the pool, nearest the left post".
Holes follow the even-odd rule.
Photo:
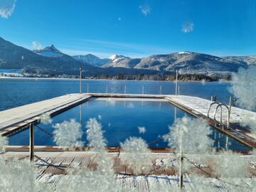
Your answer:
[[[54,142],[58,146],[73,148],[83,145],[83,142],[80,141],[82,138],[81,124],[76,122],[75,119],[55,124],[53,127],[55,128],[53,131]]]

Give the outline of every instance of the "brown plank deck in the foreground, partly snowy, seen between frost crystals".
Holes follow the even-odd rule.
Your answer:
[[[36,178],[38,181],[48,183],[53,188],[61,185],[62,179],[67,176],[68,169],[74,167],[87,168],[93,171],[97,170],[97,153],[93,151],[38,151],[35,153],[35,166],[38,170]],[[168,187],[170,190],[178,188],[178,160],[176,156],[170,153],[151,153],[151,163],[146,171],[135,174],[135,171],[127,166],[129,156],[120,152],[110,152],[107,154],[112,158],[113,169],[116,173],[116,179],[123,188],[136,189],[136,191],[151,191],[153,187]],[[10,161],[11,159],[28,159],[28,152],[7,151],[3,156]],[[245,161],[250,161],[250,156],[242,156]],[[188,171],[186,171],[185,188],[188,185],[188,176],[193,173],[205,176],[209,184],[218,181],[221,185],[216,191],[230,191],[228,183],[225,183],[213,174],[213,162],[216,156],[205,156],[199,164],[196,164],[193,156],[188,159],[191,162]],[[156,159],[171,159],[169,167],[159,166]],[[195,161],[194,161],[195,160]],[[250,169],[252,176],[256,175],[255,169]],[[244,184],[244,183],[243,183]],[[156,186],[155,186],[156,185]],[[186,191],[186,190],[185,190]]]

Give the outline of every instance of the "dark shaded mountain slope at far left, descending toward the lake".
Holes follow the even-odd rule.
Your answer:
[[[54,48],[50,46],[48,48]],[[57,49],[43,49],[47,53],[53,51],[58,52]],[[73,59],[69,55],[63,54],[61,57],[50,57],[41,55],[42,50],[37,50],[38,53],[34,53],[31,50],[16,46],[14,43],[5,41],[4,38],[0,38],[0,69],[30,69],[33,73],[58,73],[58,74],[70,74],[78,73],[79,68],[84,70],[97,70],[97,68],[80,63],[78,60]],[[43,51],[41,52],[43,53]]]

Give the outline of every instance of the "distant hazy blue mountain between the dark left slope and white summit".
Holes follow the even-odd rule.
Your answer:
[[[108,58],[101,59],[92,54],[75,55],[75,56],[73,56],[73,58],[75,60],[79,60],[82,63],[88,63],[90,65],[95,65],[95,66],[101,66],[110,61],[110,59],[108,59]]]

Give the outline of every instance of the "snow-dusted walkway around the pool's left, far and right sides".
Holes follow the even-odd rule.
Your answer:
[[[118,97],[119,99],[131,98],[147,98],[151,100],[165,99],[171,102],[176,107],[181,108],[195,117],[205,120],[208,124],[218,129],[220,132],[230,135],[234,139],[243,144],[256,147],[256,136],[250,134],[250,129],[242,127],[242,117],[250,115],[255,118],[256,112],[242,110],[238,107],[232,107],[230,116],[230,129],[223,129],[216,124],[213,119],[207,117],[208,107],[212,103],[210,100],[204,100],[199,97],[191,97],[185,95],[136,95],[136,94],[106,94],[106,93],[85,93],[85,94],[70,94],[61,97],[55,97],[50,100],[32,103],[16,107],[11,110],[0,112],[0,134],[10,135],[21,129],[24,129],[31,122],[37,122],[41,115],[46,112],[50,115],[55,115],[65,110],[68,110],[75,105],[79,105],[90,97]],[[225,121],[225,118],[224,118]]]

